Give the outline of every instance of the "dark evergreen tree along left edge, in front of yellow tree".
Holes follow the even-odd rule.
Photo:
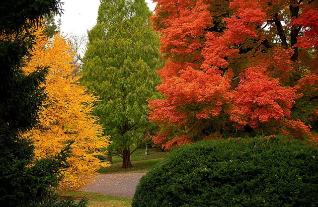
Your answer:
[[[23,133],[37,124],[45,94],[40,84],[48,67],[25,75],[21,70],[35,44],[31,30],[41,18],[61,13],[60,0],[0,1],[0,204],[5,207],[81,207],[59,201],[52,188],[66,167],[70,144],[61,153],[34,160],[33,146]]]

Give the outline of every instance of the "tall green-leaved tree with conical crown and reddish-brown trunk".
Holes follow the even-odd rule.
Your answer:
[[[101,0],[97,24],[88,32],[81,82],[101,98],[95,108],[111,149],[132,167],[130,155],[154,129],[147,119],[148,99],[162,67],[159,34],[152,30],[145,0]]]

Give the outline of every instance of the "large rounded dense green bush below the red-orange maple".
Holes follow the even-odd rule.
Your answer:
[[[170,152],[145,175],[132,207],[318,207],[318,150],[263,137],[211,140]]]

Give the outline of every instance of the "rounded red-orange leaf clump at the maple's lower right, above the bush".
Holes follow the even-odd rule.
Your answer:
[[[259,123],[290,117],[295,103],[295,90],[282,87],[278,79],[264,74],[263,66],[248,68],[245,79],[233,92],[234,109],[230,119],[252,128]]]

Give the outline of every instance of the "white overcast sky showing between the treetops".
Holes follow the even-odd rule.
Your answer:
[[[82,36],[87,33],[95,24],[99,0],[63,0],[64,14],[55,17],[61,19],[61,32],[64,35],[74,34]],[[152,0],[146,0],[150,10],[154,10],[156,4]]]

